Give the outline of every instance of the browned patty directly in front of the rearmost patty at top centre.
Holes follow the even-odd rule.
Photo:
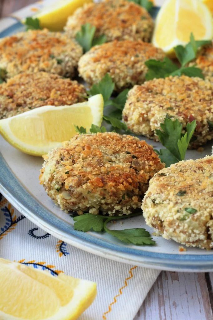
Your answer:
[[[148,59],[163,60],[164,52],[142,41],[113,41],[96,45],[79,60],[79,73],[89,84],[99,82],[109,73],[115,90],[142,84],[148,68]]]

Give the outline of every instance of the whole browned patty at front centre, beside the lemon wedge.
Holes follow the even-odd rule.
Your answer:
[[[113,132],[76,135],[44,156],[40,182],[65,211],[129,214],[164,167],[145,142]]]

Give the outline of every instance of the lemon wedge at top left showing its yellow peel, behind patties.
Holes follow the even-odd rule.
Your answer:
[[[38,18],[42,28],[48,28],[50,31],[62,31],[67,18],[82,5],[92,2],[92,0],[58,0],[51,6],[44,7],[33,17]]]

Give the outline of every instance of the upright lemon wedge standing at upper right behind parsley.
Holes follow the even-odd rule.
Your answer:
[[[152,43],[173,54],[178,44],[189,42],[190,33],[195,40],[213,37],[213,20],[208,7],[200,0],[167,0],[156,18]]]

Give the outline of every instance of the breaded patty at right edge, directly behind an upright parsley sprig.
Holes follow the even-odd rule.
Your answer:
[[[123,118],[134,133],[158,141],[155,130],[166,117],[178,119],[183,132],[188,122],[197,121],[191,148],[213,139],[213,84],[198,77],[170,76],[129,91]]]

